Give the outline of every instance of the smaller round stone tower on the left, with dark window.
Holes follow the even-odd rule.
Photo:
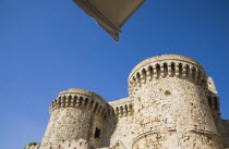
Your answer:
[[[82,140],[83,148],[100,147],[106,107],[106,101],[91,91],[69,89],[60,92],[50,107],[50,121],[41,148],[64,148],[61,146],[65,142]]]

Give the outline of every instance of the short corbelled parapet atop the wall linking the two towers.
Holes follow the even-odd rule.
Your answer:
[[[108,116],[118,115],[129,116],[133,111],[133,100],[130,98],[123,98],[120,100],[109,102],[110,107],[108,108]]]

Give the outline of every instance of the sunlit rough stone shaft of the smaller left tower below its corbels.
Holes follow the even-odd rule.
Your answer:
[[[43,147],[58,145],[63,140],[86,139],[91,136],[92,116],[80,109],[58,109],[50,116]]]

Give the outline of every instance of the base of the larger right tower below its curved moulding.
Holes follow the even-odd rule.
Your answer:
[[[210,139],[209,139],[210,138]],[[217,137],[201,133],[146,132],[133,140],[133,149],[225,149]]]

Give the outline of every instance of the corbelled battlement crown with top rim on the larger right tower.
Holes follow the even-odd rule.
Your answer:
[[[137,64],[129,76],[129,90],[131,92],[133,87],[165,77],[184,78],[196,85],[206,83],[205,71],[196,61],[182,55],[165,54]]]

